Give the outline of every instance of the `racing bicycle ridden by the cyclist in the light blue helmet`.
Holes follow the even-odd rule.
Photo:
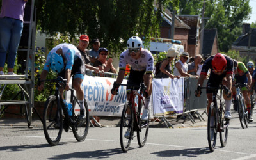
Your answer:
[[[49,145],[58,145],[63,129],[68,132],[72,129],[74,137],[77,141],[84,141],[89,129],[89,111],[86,100],[84,99],[84,114],[86,118],[79,118],[80,105],[77,97],[74,96],[74,87],[72,85],[70,102],[72,102],[72,116],[68,115],[63,99],[60,95],[60,87],[65,88],[67,82],[62,77],[56,79],[49,79],[41,81],[38,79],[38,86],[40,82],[49,81],[51,84],[55,83],[55,93],[50,95],[45,102],[43,127],[44,135]]]

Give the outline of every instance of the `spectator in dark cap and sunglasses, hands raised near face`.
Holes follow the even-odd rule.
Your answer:
[[[104,70],[104,72],[116,73],[116,69],[113,66],[113,59],[108,57],[108,49],[100,48],[99,49],[99,59],[93,63],[93,67],[98,67],[100,70]]]

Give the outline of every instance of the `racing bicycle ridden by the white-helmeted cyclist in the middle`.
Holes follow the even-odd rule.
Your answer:
[[[115,85],[115,84],[114,84]],[[127,84],[118,84],[120,86],[127,86]],[[125,103],[124,109],[122,111],[122,117],[120,122],[120,144],[123,152],[127,152],[131,141],[137,136],[138,145],[144,147],[149,128],[149,120],[141,120],[141,115],[143,113],[144,99],[143,93],[146,90],[145,84],[141,83],[140,86],[132,85],[131,92],[129,93],[129,100]],[[140,93],[136,88],[140,87]],[[135,97],[138,97],[138,107],[135,103]],[[129,115],[127,114],[129,113]],[[129,138],[125,138],[125,132],[129,129]],[[136,132],[137,134],[134,134]]]

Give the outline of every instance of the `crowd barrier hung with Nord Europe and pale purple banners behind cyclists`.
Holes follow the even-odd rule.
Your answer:
[[[118,95],[111,95],[111,88],[116,81],[117,74],[86,70],[86,75],[82,83],[84,97],[88,103],[90,116],[122,116],[122,110],[127,100],[125,86],[120,86]],[[173,127],[166,120],[169,116],[186,116],[195,123],[191,112],[197,114],[201,120],[198,110],[206,109],[207,97],[205,90],[202,90],[200,98],[195,97],[196,84],[198,79],[153,79],[153,92],[150,101],[150,118],[161,118],[166,127]],[[70,81],[71,82],[71,81]],[[127,80],[124,79],[123,84]],[[204,83],[207,83],[205,81]],[[67,93],[67,96],[68,95]],[[75,109],[79,111],[79,108]],[[204,120],[204,119],[203,119]]]

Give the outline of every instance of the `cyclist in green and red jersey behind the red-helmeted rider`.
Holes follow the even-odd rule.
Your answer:
[[[248,69],[245,67],[243,62],[237,62],[236,60],[234,60],[234,79],[233,79],[233,84],[236,83],[246,83],[248,88],[250,88],[250,84],[252,83],[252,76],[250,75],[250,72],[248,71]],[[250,112],[250,98],[249,98],[249,94],[248,94],[248,89],[246,88],[246,86],[241,88],[241,92],[243,94],[244,97],[244,101],[246,104],[246,108],[248,110],[248,112]],[[236,104],[236,87],[232,86],[232,97],[234,99],[234,104]],[[237,108],[235,107],[236,105],[234,105],[234,110],[237,110]],[[249,118],[250,115],[248,114]]]

